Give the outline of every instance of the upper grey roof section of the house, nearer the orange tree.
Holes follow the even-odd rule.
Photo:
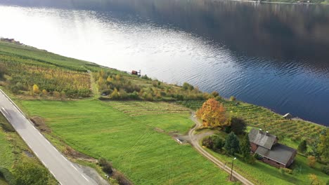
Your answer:
[[[270,150],[274,142],[276,142],[276,136],[252,128],[249,132],[249,140],[258,146],[263,146],[265,149]]]

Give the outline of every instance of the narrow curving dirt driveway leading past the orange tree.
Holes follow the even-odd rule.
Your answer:
[[[199,141],[200,141],[200,139],[202,139],[202,137],[200,137],[198,135],[194,135],[194,131],[195,131],[196,128],[198,128],[201,125],[201,123],[195,117],[195,114],[194,113],[192,113],[192,115],[191,115],[191,120],[195,123],[195,127],[192,128],[188,132],[188,137],[189,137],[189,140],[191,142],[191,145],[199,153],[201,153],[202,156],[205,156],[205,158],[208,158],[209,160],[211,160],[212,163],[215,163],[218,167],[220,167],[224,171],[228,172],[228,174],[231,174],[231,168],[230,167],[226,166],[220,160],[218,160],[217,158],[215,158],[214,156],[212,156],[210,153],[208,153],[205,149],[203,149],[202,146],[200,146]],[[205,135],[205,133],[203,135]],[[233,177],[236,178],[236,179],[238,179],[239,181],[241,181],[243,184],[253,185],[253,183],[251,181],[245,179],[245,177],[243,177],[241,174],[238,174],[238,172],[236,172],[234,170],[233,170]]]

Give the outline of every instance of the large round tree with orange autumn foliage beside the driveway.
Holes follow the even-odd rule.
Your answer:
[[[207,128],[223,127],[226,122],[226,110],[223,104],[219,104],[214,98],[210,98],[196,112],[196,116],[202,120],[202,125]]]

